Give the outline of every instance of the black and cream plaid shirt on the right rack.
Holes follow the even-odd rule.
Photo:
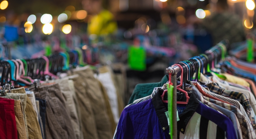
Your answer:
[[[256,129],[255,119],[251,115],[252,109],[251,109],[250,101],[246,95],[244,95],[243,93],[240,93],[240,92],[222,89],[222,88],[218,87],[218,85],[216,83],[210,83],[207,86],[209,87],[210,91],[215,94],[229,97],[229,98],[239,101],[242,104],[249,119],[252,121],[253,128]]]

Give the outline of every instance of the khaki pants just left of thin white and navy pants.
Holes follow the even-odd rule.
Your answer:
[[[12,93],[26,94],[25,88],[12,89]],[[39,122],[33,108],[33,105],[29,98],[27,97],[26,104],[26,116],[27,116],[27,126],[28,126],[28,139],[42,139],[41,129]]]

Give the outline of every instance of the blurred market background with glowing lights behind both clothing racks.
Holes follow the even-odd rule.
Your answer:
[[[160,81],[168,66],[256,33],[254,0],[0,2],[1,59],[80,47],[88,64],[123,64],[127,99],[137,83]]]

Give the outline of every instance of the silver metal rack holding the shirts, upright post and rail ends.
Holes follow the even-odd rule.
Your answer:
[[[224,45],[226,47],[228,43],[229,43],[228,40],[223,40],[220,43],[218,43],[216,46],[221,47],[221,45],[222,46]],[[216,49],[216,46],[211,47],[207,51],[213,51],[212,49],[213,48]],[[218,54],[222,54],[222,53],[218,53]],[[181,71],[181,68],[176,66],[176,65],[173,66],[173,67],[166,68],[167,74],[171,75],[171,82],[173,83],[173,86],[174,86],[173,90],[177,89],[176,88],[177,87],[177,73],[180,72],[180,71]],[[173,131],[174,131],[173,135],[172,135],[173,139],[177,139],[177,112],[176,111],[177,111],[177,94],[174,93],[173,94],[173,111],[172,111],[172,113],[173,113],[173,125],[172,125],[172,127],[173,127]]]

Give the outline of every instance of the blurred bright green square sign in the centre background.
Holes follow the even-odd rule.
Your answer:
[[[129,47],[128,64],[132,70],[146,70],[146,50],[143,47]]]

